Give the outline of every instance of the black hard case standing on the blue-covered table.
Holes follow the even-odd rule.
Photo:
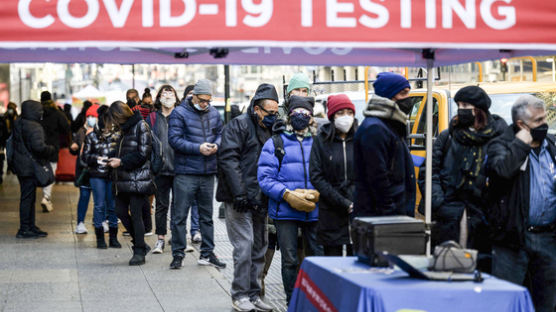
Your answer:
[[[424,255],[427,241],[423,220],[408,216],[355,218],[351,237],[358,260],[371,266],[388,265],[377,256],[382,251],[395,255]]]

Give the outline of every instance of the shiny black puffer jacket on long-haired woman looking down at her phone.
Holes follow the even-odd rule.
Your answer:
[[[140,193],[151,195],[154,193],[154,183],[151,174],[151,129],[139,112],[131,116],[120,126],[122,138],[118,143],[117,156],[122,165],[114,172],[116,194]]]

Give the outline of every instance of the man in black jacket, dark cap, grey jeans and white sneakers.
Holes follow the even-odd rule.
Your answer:
[[[277,115],[276,89],[263,83],[251,99],[247,113],[232,119],[222,131],[216,199],[224,202],[228,237],[234,246],[231,294],[236,311],[272,310],[260,298],[259,277],[268,245],[268,200],[259,187],[257,162]]]

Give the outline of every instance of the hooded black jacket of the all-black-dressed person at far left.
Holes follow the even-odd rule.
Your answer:
[[[46,144],[44,130],[39,123],[43,109],[37,101],[25,101],[21,104],[21,117],[15,121],[13,129],[14,171],[20,177],[32,177],[33,161],[29,153],[40,164],[46,164],[57,150]],[[25,151],[25,148],[27,151]]]

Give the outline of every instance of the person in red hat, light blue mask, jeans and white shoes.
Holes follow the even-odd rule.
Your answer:
[[[92,105],[88,105],[91,107]],[[102,106],[97,110],[97,114],[102,109],[108,109],[108,106]],[[83,114],[85,118],[87,112]],[[76,234],[87,234],[89,231],[85,226],[85,216],[89,207],[91,199],[91,184],[89,180],[89,169],[87,164],[82,160],[83,144],[85,143],[85,136],[91,133],[94,129],[94,119],[88,120],[81,126],[80,129],[73,133],[72,144],[70,146],[70,153],[77,156],[75,159],[75,186],[79,187],[79,200],[77,201],[77,226],[75,227]],[[75,121],[74,121],[75,122]],[[72,124],[73,125],[73,124]]]

